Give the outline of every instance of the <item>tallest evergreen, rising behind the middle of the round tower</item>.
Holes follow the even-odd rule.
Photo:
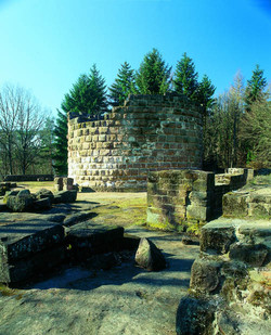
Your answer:
[[[149,52],[136,75],[137,91],[141,94],[164,94],[169,90],[171,67],[166,65],[157,49]]]

